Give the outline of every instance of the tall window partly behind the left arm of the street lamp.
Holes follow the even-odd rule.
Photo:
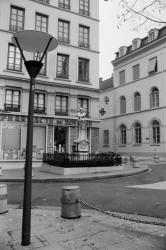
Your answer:
[[[14,44],[8,46],[8,62],[7,69],[21,71],[22,70],[22,59],[19,49]]]

